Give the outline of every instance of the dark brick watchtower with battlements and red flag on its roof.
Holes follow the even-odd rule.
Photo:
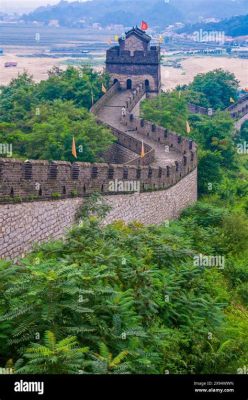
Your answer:
[[[144,83],[148,92],[158,93],[161,87],[160,47],[150,46],[151,37],[139,28],[119,38],[119,46],[107,50],[106,71],[112,83],[122,89]]]

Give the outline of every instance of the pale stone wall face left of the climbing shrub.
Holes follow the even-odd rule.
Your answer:
[[[0,258],[17,258],[35,243],[62,237],[82,199],[0,205]]]

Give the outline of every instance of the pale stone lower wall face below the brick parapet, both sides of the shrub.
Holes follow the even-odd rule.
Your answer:
[[[112,210],[104,223],[115,220],[159,224],[178,217],[197,199],[197,170],[167,190],[105,196]],[[83,199],[34,201],[0,205],[0,258],[15,259],[35,243],[61,238],[73,225]]]

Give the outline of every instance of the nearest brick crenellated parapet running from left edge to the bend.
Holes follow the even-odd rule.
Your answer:
[[[70,163],[41,160],[0,159],[1,202],[58,200],[83,197],[94,192],[105,195],[111,182],[137,181],[140,191],[159,190],[176,184],[195,168],[195,159],[185,154],[182,162],[165,168],[137,163]]]

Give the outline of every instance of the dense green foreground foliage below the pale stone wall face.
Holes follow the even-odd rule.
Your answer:
[[[99,221],[83,218],[65,242],[1,263],[2,365],[11,359],[29,373],[235,373],[245,365],[245,213],[201,202],[170,227]],[[194,266],[199,253],[221,254],[225,268]]]

